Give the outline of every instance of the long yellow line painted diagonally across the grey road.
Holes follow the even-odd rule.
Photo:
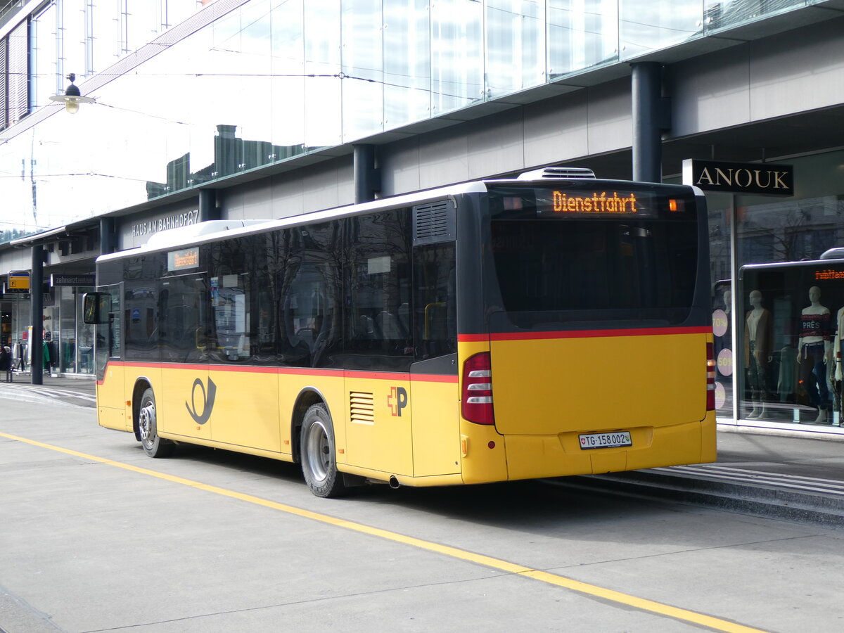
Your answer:
[[[149,475],[150,477],[156,477],[158,479],[165,479],[166,481],[173,482],[174,484],[191,486],[192,488],[197,488],[198,490],[205,490],[206,492],[211,492],[215,495],[223,495],[231,497],[232,499],[246,501],[247,503],[252,503],[257,506],[264,506],[273,510],[287,512],[288,514],[295,515],[296,517],[304,517],[307,519],[312,519],[314,521],[327,523],[328,525],[344,527],[348,530],[354,530],[354,532],[369,534],[378,538],[385,538],[396,543],[411,545],[419,549],[426,549],[430,552],[436,552],[437,554],[451,556],[452,558],[466,560],[471,563],[477,563],[478,565],[484,565],[495,570],[506,571],[506,573],[508,574],[515,574],[517,576],[527,576],[528,578],[533,578],[534,580],[538,580],[540,582],[546,582],[550,585],[556,585],[557,587],[565,587],[566,589],[585,593],[589,596],[603,598],[614,603],[626,604],[630,607],[641,609],[642,611],[651,611],[655,614],[666,615],[670,618],[684,620],[695,625],[706,626],[713,630],[726,631],[727,633],[765,633],[760,629],[754,629],[749,626],[739,625],[735,622],[730,622],[726,619],[714,618],[710,615],[695,613],[695,611],[689,611],[688,609],[680,609],[679,607],[673,607],[670,604],[657,603],[653,600],[647,600],[646,598],[637,598],[636,596],[632,596],[629,593],[617,592],[612,589],[607,589],[606,587],[598,587],[598,585],[591,585],[588,582],[580,582],[571,578],[566,578],[565,576],[558,576],[557,574],[552,574],[548,571],[535,570],[530,567],[525,567],[524,565],[517,565],[516,563],[511,563],[506,560],[500,560],[492,556],[475,554],[473,552],[468,552],[464,549],[457,549],[448,545],[432,543],[431,541],[425,541],[421,538],[414,538],[412,536],[407,536],[398,532],[383,530],[380,527],[371,527],[368,525],[364,525],[363,523],[346,521],[345,519],[332,517],[327,514],[322,514],[321,512],[303,510],[302,508],[288,506],[287,504],[278,503],[277,501],[270,501],[253,495],[244,495],[243,493],[235,492],[234,490],[227,490],[225,488],[219,488],[217,486],[202,484],[198,481],[193,481],[192,479],[184,479],[182,477],[176,477],[174,475],[169,475],[166,473],[158,473],[154,470],[149,470],[148,468],[140,468],[138,466],[133,466],[132,464],[115,462],[114,460],[106,459],[105,457],[96,457],[95,455],[88,455],[84,452],[72,451],[69,448],[62,448],[62,446],[53,446],[51,444],[45,444],[41,441],[30,440],[25,437],[12,436],[8,433],[3,432],[0,432],[0,437],[5,437],[8,440],[22,441],[26,444],[30,444],[32,446],[40,446],[41,448],[46,448],[51,451],[63,452],[67,455],[73,455],[73,457],[81,457],[82,459],[86,459],[92,462],[104,463],[109,466],[114,466],[115,468],[122,468],[123,470],[132,471],[133,473],[140,473]]]

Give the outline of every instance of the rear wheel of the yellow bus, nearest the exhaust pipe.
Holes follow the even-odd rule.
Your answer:
[[[302,419],[300,456],[305,483],[318,497],[337,497],[346,490],[343,476],[337,472],[336,451],[327,408],[322,403],[312,404]]]

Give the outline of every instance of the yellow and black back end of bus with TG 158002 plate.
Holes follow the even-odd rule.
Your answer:
[[[714,461],[700,192],[486,184],[458,255],[463,480]]]

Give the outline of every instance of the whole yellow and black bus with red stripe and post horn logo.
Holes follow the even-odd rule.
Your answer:
[[[97,260],[97,412],[301,463],[311,491],[715,458],[706,205],[543,170]]]

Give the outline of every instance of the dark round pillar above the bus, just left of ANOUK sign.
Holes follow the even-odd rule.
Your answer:
[[[633,180],[663,180],[663,130],[671,128],[668,99],[662,95],[662,64],[631,64],[633,100]]]

